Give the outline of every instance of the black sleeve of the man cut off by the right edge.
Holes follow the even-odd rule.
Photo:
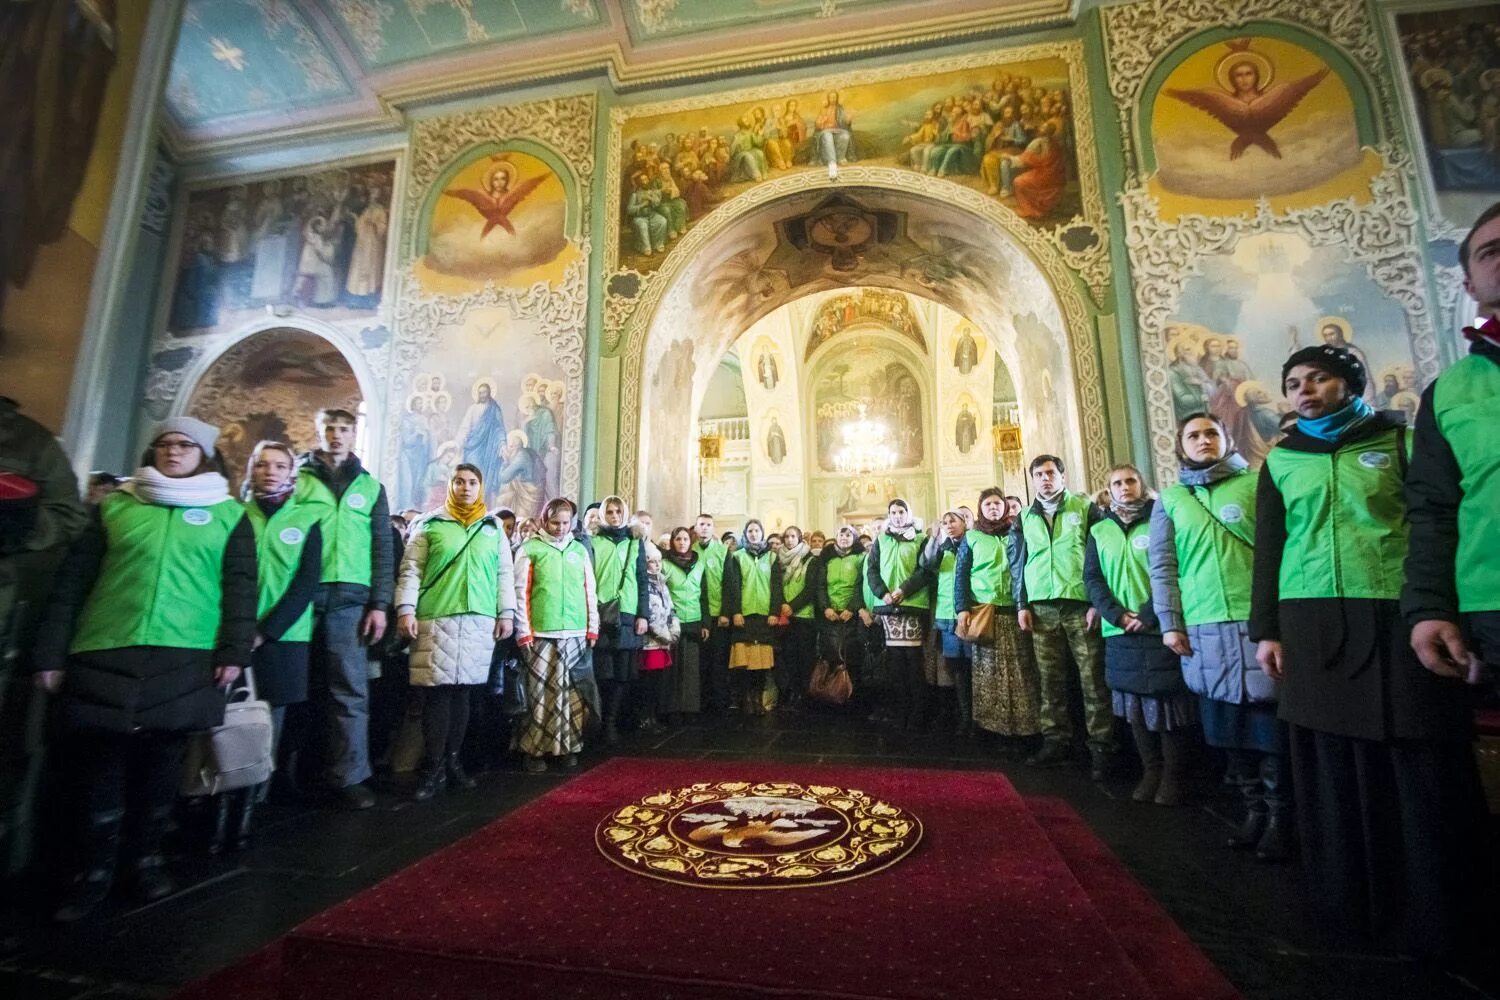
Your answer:
[[[1436,385],[1436,382],[1434,382]],[[1407,469],[1406,588],[1401,612],[1407,622],[1458,621],[1458,504],[1464,499],[1458,457],[1432,415],[1432,385],[1422,393],[1412,432]]]

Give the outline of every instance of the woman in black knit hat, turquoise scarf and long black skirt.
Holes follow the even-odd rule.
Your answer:
[[[1281,679],[1314,897],[1376,945],[1443,958],[1482,925],[1470,690],[1412,651],[1407,429],[1360,397],[1365,379],[1326,345],[1282,367],[1298,421],[1260,472],[1251,636]]]

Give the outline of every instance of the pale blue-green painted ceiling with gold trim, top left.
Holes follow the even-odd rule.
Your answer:
[[[178,150],[399,123],[447,96],[608,69],[620,88],[1059,22],[1071,0],[186,0]]]

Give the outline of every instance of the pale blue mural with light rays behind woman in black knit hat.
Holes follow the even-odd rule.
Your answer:
[[[1336,247],[1300,235],[1245,237],[1206,258],[1162,333],[1174,420],[1206,409],[1240,454],[1264,460],[1288,411],[1281,364],[1300,348],[1348,348],[1370,372],[1366,400],[1416,415],[1420,388],[1406,313]]]

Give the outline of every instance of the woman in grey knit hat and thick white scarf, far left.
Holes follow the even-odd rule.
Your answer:
[[[122,823],[136,897],[171,894],[160,849],[188,733],[224,721],[219,688],[250,661],[255,532],[230,496],[218,438],[192,417],[158,424],[52,586],[33,664],[38,684],[62,693],[58,751],[81,793],[84,853],[58,921],[108,895]]]

